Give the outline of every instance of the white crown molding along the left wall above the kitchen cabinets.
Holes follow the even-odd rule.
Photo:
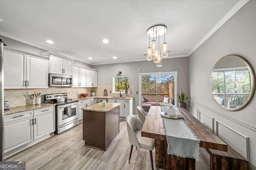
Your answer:
[[[76,57],[72,57],[72,56],[70,56],[70,55],[67,55],[67,54],[65,54],[65,53],[56,51],[56,50],[51,49],[51,48],[48,48],[48,47],[45,47],[45,46],[43,46],[43,45],[38,45],[38,44],[36,44],[36,43],[30,43],[30,42],[28,42],[28,41],[26,41],[26,40],[24,40],[24,39],[21,39],[20,37],[16,37],[16,36],[14,36],[14,35],[5,33],[5,32],[3,32],[3,31],[0,31],[0,35],[2,35],[2,36],[4,36],[4,37],[8,37],[8,38],[10,38],[10,39],[14,39],[14,40],[16,40],[16,41],[20,41],[20,42],[25,43],[25,44],[28,44],[28,45],[32,45],[32,46],[34,46],[34,47],[38,47],[38,48],[43,49],[43,50],[46,50],[46,51],[50,51],[50,52],[56,53],[56,54],[58,54],[58,55],[62,55],[62,56],[68,57],[68,58],[73,59],[73,60],[81,61],[81,62],[83,62],[83,63],[91,64],[91,65],[92,65],[92,63],[88,63],[88,62],[86,62],[86,61],[77,59]]]

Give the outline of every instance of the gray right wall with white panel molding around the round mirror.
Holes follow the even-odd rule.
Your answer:
[[[206,126],[214,127],[215,133],[244,156],[249,154],[251,168],[255,170],[256,95],[243,109],[226,111],[214,101],[211,93],[212,68],[221,57],[229,54],[241,55],[256,70],[256,1],[243,6],[194,51],[188,61],[190,112],[201,121],[202,118],[204,122],[214,120],[214,126]],[[249,139],[247,148],[246,139]]]

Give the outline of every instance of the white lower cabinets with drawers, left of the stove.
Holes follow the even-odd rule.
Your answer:
[[[4,153],[55,131],[55,107],[4,116]]]

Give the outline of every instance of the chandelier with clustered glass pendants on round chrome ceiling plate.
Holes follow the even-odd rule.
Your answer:
[[[168,57],[168,47],[167,47],[167,43],[165,42],[165,32],[166,32],[166,25],[160,25],[160,24],[150,27],[147,31],[147,35],[149,37],[148,38],[149,47],[147,49],[147,60],[148,61],[153,60],[154,63],[156,63],[157,67],[162,66],[162,58]],[[164,43],[162,44],[162,49],[160,53],[159,37],[162,35],[164,35]],[[150,43],[150,37],[153,37],[153,40],[151,41],[151,43]],[[158,46],[157,46],[157,41],[158,41]]]

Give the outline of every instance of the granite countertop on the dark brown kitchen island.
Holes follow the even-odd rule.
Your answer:
[[[120,103],[106,103],[106,106],[102,106],[102,103],[97,103],[92,106],[83,107],[82,110],[108,112],[119,105],[121,105],[121,104]]]

